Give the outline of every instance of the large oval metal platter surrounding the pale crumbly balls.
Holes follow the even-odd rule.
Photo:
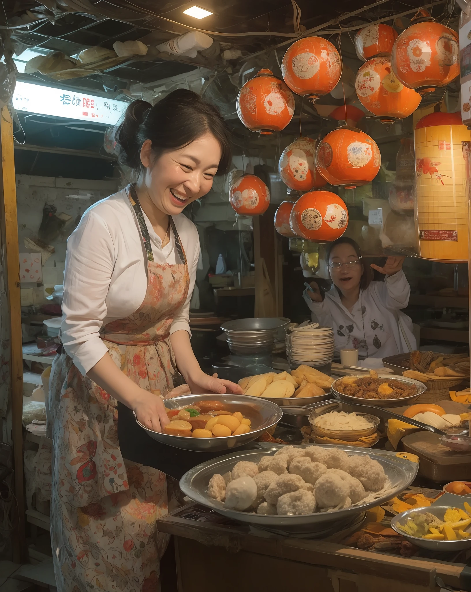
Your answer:
[[[296,448],[306,448],[309,445],[296,446]],[[217,513],[228,517],[238,522],[248,523],[258,528],[265,530],[282,530],[287,533],[305,533],[305,532],[319,532],[325,530],[327,525],[339,520],[343,520],[346,524],[356,514],[360,514],[365,510],[381,506],[385,501],[397,496],[401,491],[404,491],[408,485],[412,483],[417,475],[418,465],[415,462],[410,462],[402,458],[398,458],[395,452],[387,451],[371,451],[360,450],[355,446],[330,446],[330,445],[316,445],[322,448],[340,448],[349,455],[368,455],[372,459],[378,461],[389,481],[391,482],[391,490],[384,496],[379,496],[369,503],[359,503],[355,506],[350,506],[345,510],[333,510],[329,512],[319,512],[316,514],[306,514],[304,516],[263,516],[261,514],[252,514],[238,510],[228,510],[220,501],[213,500],[207,494],[207,485],[210,478],[215,474],[220,475],[232,470],[233,466],[239,461],[259,462],[262,456],[273,455],[282,445],[274,445],[264,448],[259,451],[241,451],[230,455],[220,456],[217,459],[203,462],[195,466],[190,471],[187,471],[180,480],[180,488],[186,496],[215,510]]]

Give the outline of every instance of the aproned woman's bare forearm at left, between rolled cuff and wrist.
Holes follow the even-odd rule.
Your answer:
[[[111,397],[131,409],[134,408],[134,404],[142,391],[131,378],[121,372],[108,353],[105,353],[103,358],[87,372],[87,377],[96,382]]]

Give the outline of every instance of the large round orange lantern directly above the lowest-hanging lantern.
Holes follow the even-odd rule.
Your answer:
[[[375,178],[381,166],[381,153],[368,134],[344,126],[320,141],[316,166],[331,185],[350,189],[366,185]]]

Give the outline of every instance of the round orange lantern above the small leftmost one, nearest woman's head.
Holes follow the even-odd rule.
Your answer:
[[[294,96],[271,70],[262,69],[242,86],[237,114],[245,127],[261,134],[283,130],[293,118]]]

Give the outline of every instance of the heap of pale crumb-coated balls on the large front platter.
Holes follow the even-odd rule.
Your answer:
[[[381,491],[386,475],[379,462],[349,456],[340,448],[284,446],[258,464],[241,461],[211,477],[207,493],[232,510],[299,516],[342,510]]]

